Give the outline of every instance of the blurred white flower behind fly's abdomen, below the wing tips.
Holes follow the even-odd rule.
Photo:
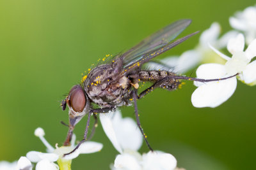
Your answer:
[[[180,57],[167,57],[161,60],[161,62],[168,67],[173,67],[173,71],[179,73],[185,73],[189,69],[195,67],[200,62],[209,62],[209,60],[212,59],[214,60],[214,62],[223,62],[223,60],[221,60],[220,58],[216,58],[216,56],[218,57],[218,55],[212,53],[212,50],[211,48],[209,48],[208,43],[211,43],[211,45],[214,45],[217,48],[223,48],[227,45],[228,39],[236,36],[237,32],[229,31],[221,36],[221,38],[219,38],[220,31],[220,24],[218,24],[217,22],[212,23],[209,29],[202,32],[199,44],[194,50],[188,50],[182,53]],[[162,64],[149,63],[148,66],[152,69],[164,69],[164,66]]]

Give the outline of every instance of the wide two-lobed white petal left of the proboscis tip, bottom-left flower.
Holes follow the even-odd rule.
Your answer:
[[[42,152],[36,152],[36,151],[28,152],[26,157],[31,162],[39,162],[42,159],[47,159],[47,160],[50,160],[51,162],[55,162],[56,160],[59,159],[59,155],[55,153],[42,153]]]

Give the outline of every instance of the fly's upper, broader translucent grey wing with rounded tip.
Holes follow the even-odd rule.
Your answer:
[[[133,46],[122,55],[123,67],[131,66],[143,59],[143,56],[147,53],[167,45],[170,41],[175,39],[180,32],[184,31],[190,23],[191,20],[188,19],[178,20],[143,39],[138,45]]]

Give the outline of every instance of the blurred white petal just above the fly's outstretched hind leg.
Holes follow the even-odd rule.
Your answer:
[[[188,50],[180,55],[175,71],[179,73],[186,73],[200,63],[202,54],[196,50]]]

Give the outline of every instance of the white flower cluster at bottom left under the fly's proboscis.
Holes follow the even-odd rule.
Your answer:
[[[18,162],[5,163],[2,162],[3,166],[6,166],[9,169],[13,169],[15,167],[17,170],[31,170],[33,165],[31,162],[36,163],[35,169],[36,170],[58,170],[58,169],[71,169],[71,162],[72,159],[75,159],[79,156],[81,153],[94,153],[99,152],[103,145],[101,143],[93,142],[93,141],[87,141],[86,143],[83,143],[79,146],[79,148],[69,155],[66,155],[63,157],[63,154],[71,152],[76,146],[76,136],[74,135],[71,141],[70,146],[61,146],[58,147],[58,144],[56,144],[56,149],[53,148],[47,140],[44,138],[45,132],[44,129],[38,127],[35,130],[35,136],[40,138],[42,143],[44,143],[47,153],[42,152],[36,152],[36,151],[30,151],[26,154],[26,157],[20,157]],[[58,165],[54,162],[58,162]],[[0,164],[0,169],[1,169]]]

